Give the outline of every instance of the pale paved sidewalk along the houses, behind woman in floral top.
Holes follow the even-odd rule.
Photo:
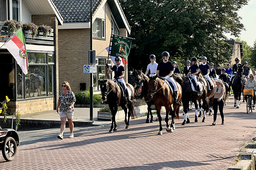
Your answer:
[[[75,126],[105,126],[112,123],[109,120],[98,120],[98,110],[100,108],[94,107],[93,108],[93,121],[90,121],[90,108],[88,107],[75,107],[73,123]],[[138,117],[141,117],[143,114],[138,114]],[[1,117],[2,118],[2,117]],[[11,120],[12,115],[7,116],[8,124],[1,125],[2,128],[10,128],[11,127]],[[52,128],[52,127],[59,127],[60,126],[60,116],[56,112],[56,110],[49,110],[49,111],[41,111],[36,113],[29,113],[22,115],[20,117],[21,125],[19,129],[40,129],[40,128]],[[116,119],[116,122],[124,121],[124,119]],[[68,121],[67,121],[68,122]],[[68,123],[66,124],[68,125]]]

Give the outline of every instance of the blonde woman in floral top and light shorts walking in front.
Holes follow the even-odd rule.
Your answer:
[[[68,125],[70,129],[70,138],[74,137],[73,129],[73,115],[74,115],[74,104],[76,102],[75,94],[71,91],[68,82],[62,83],[62,91],[59,93],[59,100],[57,104],[57,113],[60,111],[60,134],[57,136],[59,139],[63,139],[63,133],[66,127],[66,119],[68,118]]]

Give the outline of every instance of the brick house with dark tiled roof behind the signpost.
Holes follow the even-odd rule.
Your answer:
[[[88,64],[90,50],[90,0],[53,0],[64,19],[58,27],[59,47],[59,90],[61,83],[68,81],[73,92],[90,89],[90,74],[84,73]],[[127,37],[130,26],[118,0],[92,0],[93,39],[92,50],[96,51],[96,73],[93,75],[94,94],[100,92],[97,79],[105,77],[106,63],[114,64],[106,47],[110,44],[111,28],[113,34]],[[125,80],[128,78],[128,67],[125,65]],[[112,78],[112,75],[107,75]]]

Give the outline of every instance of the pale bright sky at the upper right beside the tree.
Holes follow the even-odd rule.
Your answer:
[[[256,0],[250,0],[248,5],[239,10],[238,15],[242,17],[241,22],[246,29],[246,31],[241,31],[239,38],[253,47],[254,41],[256,41]],[[235,39],[234,36],[228,34],[226,36]]]

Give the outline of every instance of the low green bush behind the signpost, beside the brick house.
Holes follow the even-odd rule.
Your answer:
[[[76,96],[76,104],[90,104],[90,92],[82,91],[79,93],[75,93]],[[93,95],[93,104],[101,104],[101,95],[94,94]]]

